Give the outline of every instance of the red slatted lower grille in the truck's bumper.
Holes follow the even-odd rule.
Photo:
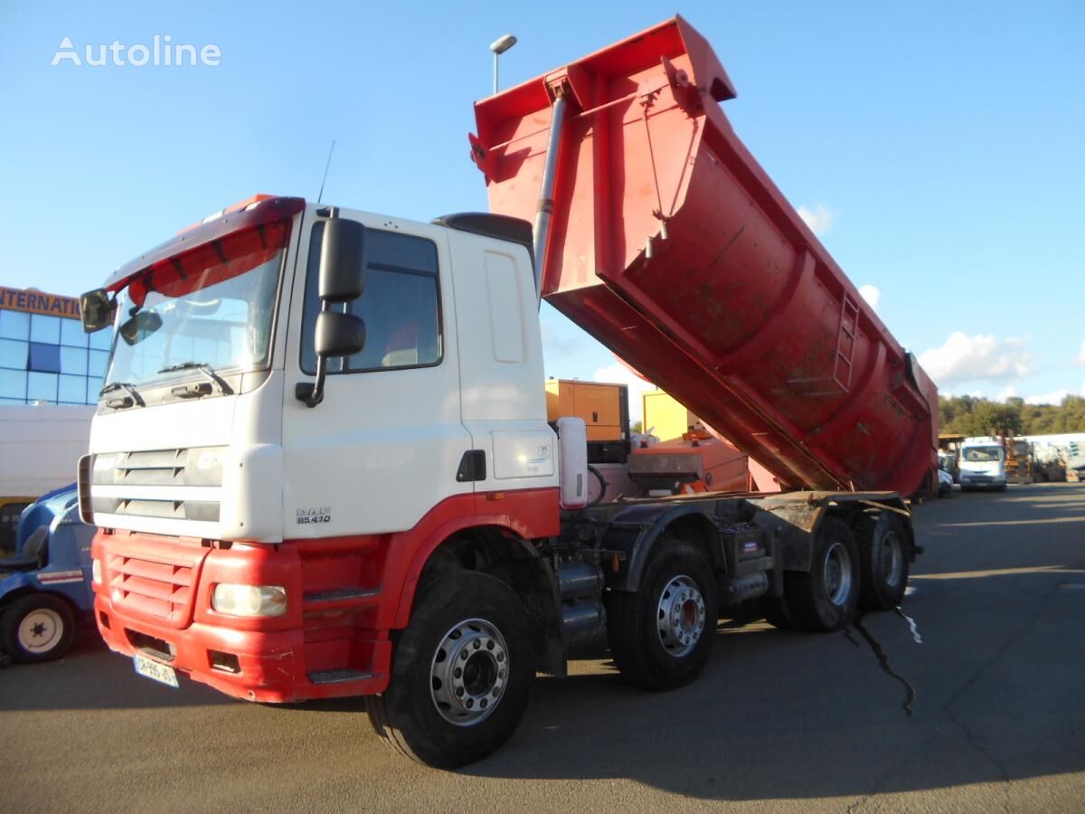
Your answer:
[[[113,605],[174,626],[183,625],[189,621],[195,590],[194,565],[111,556],[106,568]]]

